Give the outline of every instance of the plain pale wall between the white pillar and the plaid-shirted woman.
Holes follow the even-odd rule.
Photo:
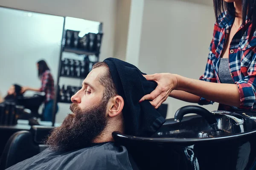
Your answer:
[[[145,0],[139,68],[198,79],[207,63],[215,23],[213,6],[179,0]],[[169,98],[167,118],[189,103]],[[205,106],[216,110],[217,104]]]

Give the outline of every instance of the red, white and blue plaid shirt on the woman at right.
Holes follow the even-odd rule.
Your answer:
[[[228,34],[235,19],[229,14],[223,14],[223,16],[221,17],[222,22],[219,24],[220,26],[215,23],[207,65],[204,75],[200,77],[200,80],[221,83],[218,77],[221,51],[228,39]],[[256,111],[256,31],[249,42],[248,38],[251,27],[250,20],[246,20],[244,28],[241,26],[230,42],[229,68],[230,75],[239,89],[239,109]],[[201,98],[199,102],[200,105],[212,103],[212,101],[204,98]],[[221,108],[229,110],[228,106],[222,106]],[[230,110],[231,108],[235,107],[230,107]]]

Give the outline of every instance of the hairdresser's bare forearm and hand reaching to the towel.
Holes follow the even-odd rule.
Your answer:
[[[236,84],[205,82],[169,73],[144,75],[144,77],[156,81],[158,86],[151,94],[143,96],[140,102],[152,100],[151,104],[155,108],[158,108],[168,96],[192,102],[196,102],[200,99],[196,96],[200,96],[225,105],[240,106],[240,94]],[[174,91],[172,94],[173,90],[184,91],[185,93]]]

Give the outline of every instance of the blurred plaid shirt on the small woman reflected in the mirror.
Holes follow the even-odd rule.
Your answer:
[[[45,93],[46,98],[44,103],[47,103],[49,102],[49,100],[54,99],[54,80],[49,70],[44,71],[41,76],[41,82],[42,86],[40,88],[40,91]]]

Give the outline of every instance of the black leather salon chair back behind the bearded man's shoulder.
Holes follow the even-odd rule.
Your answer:
[[[43,140],[52,130],[47,126],[32,126],[14,133],[6,143],[0,159],[0,170],[5,170],[20,161],[31,158],[47,148]]]

